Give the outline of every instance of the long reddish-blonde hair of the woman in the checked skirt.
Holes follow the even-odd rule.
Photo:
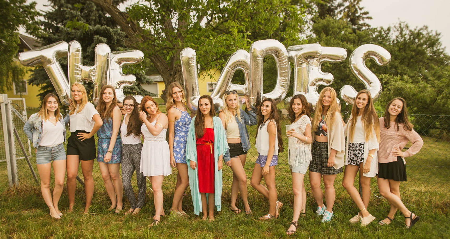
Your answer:
[[[312,131],[315,132],[317,130],[317,125],[319,125],[320,120],[322,119],[322,115],[324,113],[324,106],[322,105],[322,98],[324,97],[325,92],[329,91],[331,94],[331,102],[330,107],[328,108],[327,115],[325,115],[325,123],[327,124],[328,131],[331,129],[335,119],[336,112],[339,112],[338,102],[336,101],[336,91],[327,86],[322,91],[320,91],[319,100],[315,105],[314,116],[312,118]]]

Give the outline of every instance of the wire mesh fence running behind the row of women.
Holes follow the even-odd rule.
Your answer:
[[[18,111],[21,112],[21,108]],[[36,110],[36,109],[34,109]],[[348,115],[348,112],[343,113],[343,115]],[[408,175],[408,181],[401,184],[402,194],[414,194],[423,195],[423,197],[428,197],[430,195],[441,195],[446,196],[450,193],[449,181],[450,181],[450,138],[449,138],[449,128],[450,126],[450,115],[410,115],[412,123],[415,125],[414,129],[421,134],[423,137],[424,145],[422,150],[417,155],[406,158],[406,171]],[[15,127],[18,129],[20,137],[23,142],[27,141],[25,134],[22,132],[23,122],[21,120],[14,120]],[[285,125],[290,124],[287,115],[282,115],[279,122],[282,130],[282,136],[284,138],[284,145],[287,149],[288,139],[286,137]],[[248,126],[247,126],[248,127]],[[249,196],[254,194],[250,186],[250,177],[252,175],[252,169],[254,167],[255,161],[257,159],[257,150],[255,145],[255,135],[257,132],[257,126],[248,127],[250,134],[250,143],[252,148],[247,152],[247,161],[245,164],[245,171],[247,173],[247,184],[249,187]],[[0,130],[0,134],[2,131]],[[1,136],[1,135],[0,135]],[[1,140],[1,139],[0,139]],[[97,141],[97,139],[96,139]],[[408,148],[409,145],[406,146]],[[0,149],[0,155],[2,154],[2,149]],[[18,167],[18,180],[19,183],[35,184],[33,177],[31,176],[31,168],[27,165],[26,160],[23,158],[23,153],[21,150],[16,150],[17,154],[17,167]],[[36,158],[34,156],[34,149],[31,150],[31,165],[34,171],[37,173],[36,169]],[[0,167],[4,163],[0,163]],[[279,162],[276,166],[276,185],[279,195],[292,195],[292,176],[288,165],[288,155],[287,150],[279,153]],[[233,181],[233,174],[231,168],[224,165],[223,168],[223,197],[228,199],[231,184]],[[80,178],[82,177],[81,168],[78,173]],[[105,189],[103,186],[103,179],[101,177],[99,165],[94,163],[94,182],[95,190],[98,193],[104,193]],[[38,176],[39,177],[39,176]],[[53,176],[52,176],[53,177]],[[342,187],[343,173],[338,174],[335,181],[336,195],[338,199],[349,198],[346,190]],[[53,181],[53,180],[52,180]],[[356,180],[356,184],[357,184]],[[136,178],[132,178],[133,187],[137,190]],[[6,182],[0,182],[6,183]],[[163,191],[166,195],[172,195],[175,189],[176,183],[176,169],[172,170],[172,174],[164,179]],[[77,184],[78,187],[82,187]],[[148,191],[151,191],[150,184],[148,185]],[[305,176],[305,186],[306,191],[311,192],[309,186],[308,174]],[[322,186],[323,188],[323,186]],[[375,179],[372,179],[371,189],[374,195],[379,196],[378,186]],[[187,191],[189,195],[189,191]]]

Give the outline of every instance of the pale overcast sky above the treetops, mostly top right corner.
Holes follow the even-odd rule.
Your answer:
[[[38,9],[44,9],[43,4],[47,3],[47,0],[35,1]],[[427,25],[441,33],[441,42],[450,53],[450,0],[362,0],[361,5],[373,18],[369,20],[372,27],[388,27],[399,21],[411,28]]]

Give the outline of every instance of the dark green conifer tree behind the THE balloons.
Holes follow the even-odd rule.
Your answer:
[[[44,14],[42,26],[46,34],[39,39],[44,44],[52,44],[60,40],[70,42],[76,40],[81,44],[83,65],[94,65],[95,46],[99,43],[108,44],[111,51],[127,50],[125,46],[126,35],[120,27],[108,16],[103,9],[86,0],[49,0],[51,9]],[[117,6],[123,0],[114,0],[112,5]],[[67,58],[62,58],[60,64],[67,69]],[[136,75],[137,84],[126,87],[125,94],[152,94],[144,90],[140,84],[150,83],[145,76],[146,67],[143,64],[131,65],[124,68],[124,73]],[[67,71],[66,71],[67,75]],[[40,85],[40,97],[54,92],[47,73],[42,67],[34,70],[30,79],[31,84]],[[87,90],[91,91],[90,84]]]

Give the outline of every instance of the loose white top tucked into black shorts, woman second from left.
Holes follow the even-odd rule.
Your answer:
[[[95,114],[99,115],[99,112],[95,110],[95,107],[91,102],[87,102],[81,112],[76,113],[77,111],[78,105],[75,108],[75,113],[73,113],[73,115],[70,115],[70,132],[73,133],[77,130],[91,132],[95,124],[95,121],[92,119],[92,117]]]

